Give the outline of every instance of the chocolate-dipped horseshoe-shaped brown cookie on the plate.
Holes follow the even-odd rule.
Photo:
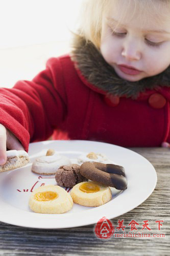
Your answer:
[[[105,186],[124,190],[127,188],[127,179],[123,166],[98,162],[85,162],[80,167],[82,176],[99,182]]]

